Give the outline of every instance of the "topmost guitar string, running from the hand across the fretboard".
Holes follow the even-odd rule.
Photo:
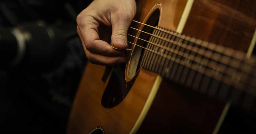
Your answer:
[[[245,54],[244,54],[243,52],[241,52],[241,51],[237,51],[237,50],[234,50],[234,49],[226,48],[226,47],[223,47],[223,46],[220,46],[220,45],[216,45],[216,44],[212,44],[212,43],[210,43],[210,44],[212,44],[212,46],[210,46],[210,45],[208,45],[208,44],[209,44],[208,42],[205,42],[206,44],[203,45],[203,44],[201,44],[201,43],[196,43],[195,41],[191,40],[191,39],[196,40],[196,38],[189,37],[189,36],[186,36],[186,35],[182,35],[182,34],[179,34],[179,33],[173,32],[173,31],[168,31],[168,30],[163,29],[163,28],[151,26],[151,25],[148,25],[148,24],[145,24],[145,23],[138,22],[138,21],[136,21],[136,20],[132,20],[132,21],[133,21],[133,22],[136,22],[136,23],[139,23],[139,24],[142,24],[142,25],[145,25],[145,26],[148,26],[148,27],[151,27],[151,28],[154,28],[154,29],[157,29],[157,30],[160,30],[160,31],[165,32],[165,33],[168,33],[168,34],[170,34],[170,35],[173,35],[173,36],[182,38],[182,39],[184,39],[184,40],[187,40],[187,41],[189,41],[189,42],[195,43],[195,44],[197,44],[197,45],[200,45],[200,46],[202,46],[202,47],[208,48],[208,49],[210,49],[210,50],[217,51],[217,52],[219,52],[219,53],[221,53],[221,54],[223,54],[223,55],[226,55],[226,56],[228,56],[228,57],[232,57],[232,58],[234,58],[234,59],[238,59],[238,60],[241,60],[241,59],[242,59],[242,58],[237,58],[234,53],[242,53],[242,55],[245,55]],[[133,27],[130,27],[130,28],[133,28]],[[139,30],[139,29],[136,29],[136,28],[133,28],[133,29]],[[142,31],[142,30],[140,30],[140,31],[141,31],[141,32],[144,32],[144,31]],[[174,35],[174,34],[176,34],[176,35]],[[157,37],[156,35],[152,35],[152,36]],[[182,36],[184,36],[184,37],[182,37]],[[188,37],[189,39],[185,39],[185,37]],[[167,38],[162,38],[162,37],[159,37],[159,36],[158,36],[157,38],[162,39],[162,40],[165,40],[165,41],[167,41],[167,42],[172,41],[172,40],[169,40],[169,39],[167,39]],[[200,40],[200,42],[204,42],[204,41]],[[170,43],[172,43],[172,42],[170,42]],[[176,44],[176,45],[177,45],[177,44]],[[218,48],[218,47],[219,47],[219,48]],[[227,53],[227,52],[226,52],[226,53],[223,53],[223,48],[226,48],[226,50],[228,49],[229,51],[232,51],[232,52],[231,52],[231,53]],[[199,48],[199,49],[200,49],[200,48]],[[254,57],[254,56],[253,56],[253,57]],[[244,59],[247,59],[247,58],[245,58],[245,56],[244,56],[243,58],[244,58]],[[255,59],[255,58],[254,58],[254,59]],[[255,60],[253,61],[253,63],[254,63],[254,62],[255,62]],[[251,64],[251,63],[248,62],[247,64]],[[251,65],[254,66],[254,64],[251,64]]]

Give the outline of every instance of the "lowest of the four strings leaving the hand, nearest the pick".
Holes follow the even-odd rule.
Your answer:
[[[176,62],[176,63],[178,63],[178,64],[181,64],[181,65],[186,66],[186,67],[188,67],[188,68],[190,68],[190,69],[193,69],[193,70],[195,70],[195,71],[198,71],[199,73],[202,73],[202,74],[207,75],[207,76],[209,76],[209,77],[213,77],[213,78],[215,78],[215,79],[217,79],[217,80],[222,80],[221,77],[218,77],[218,75],[219,75],[218,73],[217,73],[217,75],[213,75],[212,70],[207,69],[207,68],[205,68],[205,67],[198,66],[198,65],[195,65],[195,64],[191,64],[191,63],[189,64],[188,62],[184,62],[183,60],[180,60],[180,59],[178,59],[178,58],[176,58],[176,57],[171,57],[171,56],[170,56],[171,58],[168,58],[168,57],[166,57],[166,56],[164,56],[164,55],[159,54],[159,52],[155,52],[154,50],[150,50],[150,49],[148,49],[148,48],[145,48],[145,47],[143,47],[143,46],[134,44],[134,43],[129,42],[129,41],[128,41],[128,43],[131,43],[131,44],[133,44],[133,45],[136,45],[136,46],[138,46],[138,47],[141,47],[141,48],[143,48],[143,49],[146,49],[146,50],[148,50],[148,51],[151,51],[151,52],[153,52],[153,53],[155,53],[155,54],[158,54],[158,55],[160,55],[160,56],[162,56],[162,57],[164,57],[164,58],[167,58],[167,59],[169,59],[169,60],[172,60],[172,61],[174,61],[174,62]],[[168,56],[168,55],[167,55],[167,56]],[[138,62],[138,61],[137,61],[137,62]],[[202,70],[203,70],[203,71],[202,71]],[[228,75],[226,75],[226,76],[228,76]],[[230,76],[229,76],[229,77],[230,77]],[[234,79],[236,79],[236,80],[234,80]],[[248,81],[243,80],[243,79],[240,79],[239,77],[236,78],[236,77],[232,77],[232,76],[231,76],[231,81],[227,81],[227,80],[230,80],[230,78],[229,78],[229,79],[225,79],[225,80],[222,81],[222,82],[224,82],[224,83],[226,83],[226,84],[229,84],[229,85],[231,85],[231,84],[236,85],[236,84],[238,84],[238,83],[237,83],[238,81],[242,81],[242,82],[243,82],[243,85],[247,83],[247,84],[249,84],[249,85],[255,87],[254,85],[252,85],[252,84],[249,83]],[[240,87],[240,88],[241,88],[241,87]],[[242,89],[242,88],[241,88],[241,89]]]

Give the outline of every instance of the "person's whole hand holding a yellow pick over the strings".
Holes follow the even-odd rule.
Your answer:
[[[94,0],[77,16],[77,33],[91,63],[111,66],[126,62],[127,30],[135,13],[135,0]],[[110,40],[121,50],[112,48]]]

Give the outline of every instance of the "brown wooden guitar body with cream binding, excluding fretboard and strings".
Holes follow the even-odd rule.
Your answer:
[[[135,20],[146,23],[158,9],[158,26],[247,52],[256,25],[254,5],[251,1],[195,0],[189,8],[185,0],[142,0],[137,3]],[[184,18],[184,11],[188,17]],[[241,18],[244,20],[240,21]],[[106,68],[88,63],[67,132],[97,133],[97,127],[104,133],[218,132],[228,109],[224,101],[187,89],[143,68],[138,69],[133,78],[127,75],[125,65]]]

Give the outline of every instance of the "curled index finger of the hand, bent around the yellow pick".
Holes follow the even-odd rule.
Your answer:
[[[87,19],[79,21],[83,22],[78,23],[78,32],[80,32],[80,36],[88,51],[106,56],[121,56],[125,54],[125,51],[115,50],[109,43],[100,40],[97,29],[99,24],[96,20],[87,17]]]

